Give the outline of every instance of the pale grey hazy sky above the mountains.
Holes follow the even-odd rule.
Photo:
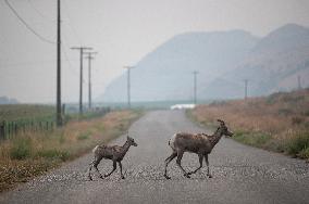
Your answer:
[[[55,41],[55,0],[9,0],[33,29]],[[286,24],[309,26],[308,0],[61,0],[62,100],[78,100],[79,53],[94,62],[94,98],[158,46],[185,31],[245,29],[256,36]],[[21,102],[55,101],[55,44],[32,34],[0,0],[0,95]],[[70,62],[70,63],[69,63]],[[84,66],[87,98],[87,64]]]

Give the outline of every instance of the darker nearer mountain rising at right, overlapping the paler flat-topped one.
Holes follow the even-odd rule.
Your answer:
[[[233,71],[205,88],[209,98],[244,97],[244,79],[249,80],[248,94],[263,95],[309,86],[309,29],[285,25],[262,38],[252,52]]]

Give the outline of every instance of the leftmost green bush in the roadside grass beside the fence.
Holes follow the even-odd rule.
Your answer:
[[[32,141],[29,138],[20,138],[13,141],[10,150],[10,157],[12,160],[24,160],[30,156]]]

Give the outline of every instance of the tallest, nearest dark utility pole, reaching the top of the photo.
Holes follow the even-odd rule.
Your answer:
[[[62,125],[61,117],[61,18],[60,0],[57,2],[57,104],[55,104],[55,124]]]

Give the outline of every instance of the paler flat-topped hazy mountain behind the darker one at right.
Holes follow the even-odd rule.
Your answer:
[[[198,84],[206,86],[245,59],[257,41],[243,30],[175,36],[132,69],[132,100],[191,99],[193,71],[199,71]],[[126,75],[112,81],[99,100],[125,101]]]

